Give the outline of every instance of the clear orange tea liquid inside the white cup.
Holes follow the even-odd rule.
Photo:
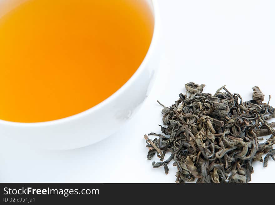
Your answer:
[[[15,122],[108,98],[142,63],[154,26],[144,0],[28,0],[0,16],[0,119]]]

